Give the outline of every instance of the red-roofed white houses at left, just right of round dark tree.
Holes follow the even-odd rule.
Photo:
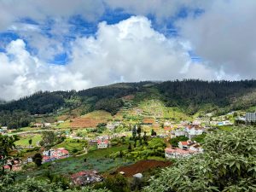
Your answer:
[[[43,163],[53,160],[60,160],[69,157],[69,152],[65,148],[49,149],[43,152]]]

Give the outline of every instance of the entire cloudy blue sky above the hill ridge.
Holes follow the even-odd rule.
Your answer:
[[[0,98],[255,79],[254,0],[0,0]]]

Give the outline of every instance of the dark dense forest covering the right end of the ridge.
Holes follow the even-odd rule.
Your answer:
[[[255,90],[256,80],[208,82],[189,79],[166,81],[158,84],[157,87],[164,96],[167,106],[185,106],[189,107],[190,113],[195,113],[201,105],[207,103],[222,108],[231,104],[234,109],[249,107],[237,103],[237,98]],[[254,100],[253,96],[250,97],[247,100]],[[235,105],[234,102],[236,102]],[[253,104],[255,104],[255,100],[250,103],[251,106]]]

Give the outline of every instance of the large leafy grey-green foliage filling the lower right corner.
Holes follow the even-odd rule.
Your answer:
[[[253,127],[208,134],[204,154],[178,160],[144,191],[256,191],[255,138]]]

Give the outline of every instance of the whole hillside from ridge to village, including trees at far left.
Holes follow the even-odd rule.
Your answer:
[[[185,115],[222,114],[231,110],[253,110],[255,95],[255,80],[207,82],[191,79],[119,83],[80,91],[39,91],[18,101],[0,104],[0,124],[12,128],[27,126],[33,120],[27,114],[79,117],[94,110],[105,110],[114,115],[154,99]]]

